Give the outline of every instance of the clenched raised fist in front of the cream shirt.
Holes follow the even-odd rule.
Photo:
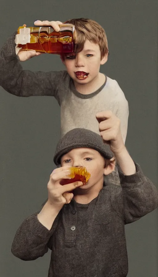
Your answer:
[[[99,122],[99,131],[103,141],[110,145],[114,154],[119,154],[125,148],[119,118],[111,111],[97,113],[96,118]]]

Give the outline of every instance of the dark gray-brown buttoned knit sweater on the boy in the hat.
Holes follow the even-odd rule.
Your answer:
[[[89,204],[72,200],[57,215],[51,230],[36,212],[21,224],[11,251],[35,260],[52,250],[49,277],[126,277],[128,259],[124,225],[158,207],[158,193],[143,175],[119,173],[121,186],[104,186]]]

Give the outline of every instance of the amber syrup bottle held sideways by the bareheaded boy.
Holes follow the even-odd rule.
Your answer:
[[[52,27],[24,27],[18,28],[15,43],[22,50],[35,50],[36,52],[62,54],[74,51],[73,39],[74,25],[60,24],[60,31]]]

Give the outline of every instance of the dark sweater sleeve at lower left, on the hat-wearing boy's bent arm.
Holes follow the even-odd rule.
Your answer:
[[[48,252],[52,235],[58,224],[60,213],[57,215],[50,231],[39,222],[38,213],[39,211],[23,221],[11,246],[12,254],[24,261],[35,260]]]

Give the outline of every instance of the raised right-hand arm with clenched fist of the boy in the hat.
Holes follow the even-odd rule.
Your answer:
[[[102,139],[110,145],[119,165],[122,190],[115,192],[125,223],[131,223],[158,207],[158,191],[129,155],[120,131],[120,120],[111,111],[96,115]]]

